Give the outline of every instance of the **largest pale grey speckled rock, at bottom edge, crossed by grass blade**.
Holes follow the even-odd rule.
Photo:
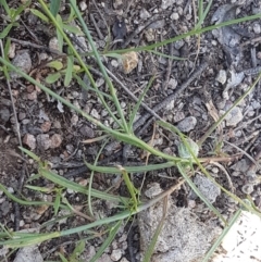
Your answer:
[[[148,249],[162,215],[163,201],[138,214],[142,253]],[[176,208],[172,199],[169,199],[167,214],[150,261],[198,261],[212,246],[212,241],[219,233],[217,227],[198,222],[191,210]]]

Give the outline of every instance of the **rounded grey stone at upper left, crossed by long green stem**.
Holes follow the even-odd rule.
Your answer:
[[[24,73],[29,73],[32,68],[32,60],[29,52],[27,50],[18,52],[13,59],[12,64],[22,70]],[[10,76],[13,79],[21,77],[21,75],[15,72],[11,72]]]

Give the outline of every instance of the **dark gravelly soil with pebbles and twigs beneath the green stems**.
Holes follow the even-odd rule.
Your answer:
[[[36,1],[32,2],[30,8],[36,9]],[[112,33],[109,48],[116,50],[159,42],[192,29],[195,2],[197,1],[78,1],[78,7],[98,49],[104,49],[109,27]],[[10,5],[15,8],[17,3],[11,1]],[[67,7],[63,3],[62,17],[66,17],[67,12]],[[3,13],[1,8],[0,24],[2,28],[5,23]],[[261,13],[261,2],[258,0],[216,0],[213,1],[203,26],[257,13]],[[42,23],[29,10],[21,15],[18,24],[20,26],[13,28],[9,35],[11,37],[9,59],[35,79],[45,83],[46,77],[51,73],[51,70],[47,67],[47,61],[57,58],[53,51],[58,49],[55,30]],[[116,58],[107,58],[104,65],[113,79],[125,115],[128,115],[129,107],[135,104],[129,93],[138,97],[142,93],[150,77],[156,75],[144,102],[154,112],[157,111],[156,113],[160,117],[174,124],[192,140],[201,141],[206,132],[248,89],[254,82],[257,73],[261,71],[260,34],[260,20],[250,21],[207,32],[200,36],[200,42],[198,37],[192,36],[157,49],[158,52],[175,55],[182,60],[172,60],[152,52],[136,53],[133,51],[124,54],[122,61]],[[74,35],[71,36],[71,39],[80,52],[89,51],[89,46],[83,37]],[[3,40],[5,41],[5,39]],[[86,63],[91,65],[94,61],[86,58]],[[98,68],[94,67],[91,72],[100,90],[108,92],[108,87]],[[87,185],[90,172],[86,169],[83,159],[94,163],[102,142],[86,145],[83,141],[99,137],[102,133],[80,115],[57,102],[15,73],[11,73],[10,83],[16,109],[16,115],[14,115],[8,84],[2,75],[0,76],[0,183],[16,196],[22,192],[32,200],[53,200],[51,194],[39,195],[24,187],[28,177],[36,172],[37,165],[30,160],[23,161],[24,157],[17,149],[21,136],[23,146],[42,160],[49,161],[50,167],[55,173],[80,185]],[[84,78],[84,80],[88,85],[88,78]],[[94,92],[84,90],[76,80],[69,87],[64,86],[63,80],[58,80],[54,85],[49,86],[92,117],[113,128],[117,127]],[[129,93],[124,90],[124,87]],[[222,125],[206,140],[199,152],[202,158],[213,155],[216,158],[215,161],[213,160],[204,166],[216,182],[240,198],[249,195],[259,210],[261,209],[260,170],[259,165],[254,163],[259,162],[261,155],[260,108],[261,92],[260,83],[258,83],[250,95],[233,109]],[[18,133],[15,116],[20,124]],[[135,127],[142,140],[149,141],[154,134],[154,148],[165,153],[177,154],[179,141],[176,136],[159,126],[153,127],[153,121],[150,121],[151,114],[145,108],[139,110],[138,117]],[[146,123],[148,125],[142,128]],[[141,150],[132,147],[128,148],[127,153],[123,153],[122,149],[123,145],[110,142],[102,151],[100,161],[107,165],[141,165],[145,163]],[[160,162],[161,160],[156,157],[149,159],[149,163]],[[160,172],[149,172],[142,192],[148,194],[152,187],[153,192],[160,194],[176,184],[179,176],[177,170],[173,167]],[[136,187],[140,187],[142,178],[144,174],[134,174],[133,182]],[[222,215],[231,217],[237,209],[237,204],[214,187],[202,174],[197,174],[194,179],[201,192]],[[122,185],[117,186],[117,180],[116,176],[97,174],[94,179],[94,188],[107,190],[113,187],[115,195],[123,196],[125,188]],[[37,186],[53,187],[45,179],[39,183]],[[65,196],[71,204],[85,213],[84,201],[86,200],[83,196],[71,190],[66,190]],[[145,196],[150,198],[150,195]],[[115,240],[98,261],[141,261],[142,252],[148,245],[144,241],[146,238],[150,238],[145,233],[153,234],[151,233],[154,226],[152,222],[160,221],[160,215],[162,215],[162,210],[159,211],[160,214],[157,211],[160,207],[159,204],[148,213],[140,214],[132,224],[122,226]],[[191,246],[185,248],[186,246],[182,245],[183,241],[184,244],[187,241],[187,238],[191,238],[182,230],[182,227],[186,227],[186,225],[181,222],[178,224],[182,227],[167,226],[176,223],[179,220],[178,214],[182,214],[183,219],[186,217],[189,221],[190,228],[195,228],[199,235],[201,232],[202,238],[200,239],[202,242],[206,241],[206,245],[199,242],[199,246],[208,248],[219,235],[222,228],[221,222],[213,217],[213,214],[187,185],[181,186],[171,196],[169,209],[170,217],[167,216],[165,230],[163,229],[161,235],[162,241],[158,245],[160,248],[157,248],[158,257],[152,258],[152,261],[200,261],[207,250],[202,248],[199,252],[198,247],[194,247],[195,257],[188,257],[189,252],[192,253],[189,250]],[[94,203],[94,211],[97,217],[105,217],[114,214],[115,208],[109,201],[97,200]],[[20,207],[0,191],[0,220],[9,228],[14,230],[38,228],[52,215],[52,210],[48,207],[41,207],[41,209]],[[59,213],[58,215],[66,214]],[[152,219],[150,215],[156,215],[156,217]],[[142,223],[147,223],[147,225]],[[86,224],[85,217],[70,216],[48,229],[64,229],[83,224]],[[171,234],[169,239],[173,238],[171,242],[174,246],[166,248],[161,244],[166,241],[164,236],[167,235],[167,230],[178,232],[181,239],[178,241],[178,235]],[[211,234],[206,239],[203,237],[208,235],[208,232]],[[58,251],[64,254],[72,253],[74,248],[72,244],[78,240],[78,237],[80,236],[45,242],[36,249],[41,259],[55,260],[59,258]],[[83,261],[89,261],[103,240],[104,238],[100,237],[88,241],[83,253]],[[177,252],[173,250],[178,249],[184,252],[178,252],[177,255]],[[169,257],[170,250],[175,259]],[[35,249],[30,249],[29,252],[36,253]],[[217,252],[222,253],[222,249]],[[4,253],[3,249],[1,249],[0,257],[1,253]],[[10,261],[14,261],[15,255],[13,254]],[[34,259],[34,261],[42,261],[41,259]],[[250,257],[247,257],[244,261],[261,260],[257,257],[256,259],[251,260]]]

